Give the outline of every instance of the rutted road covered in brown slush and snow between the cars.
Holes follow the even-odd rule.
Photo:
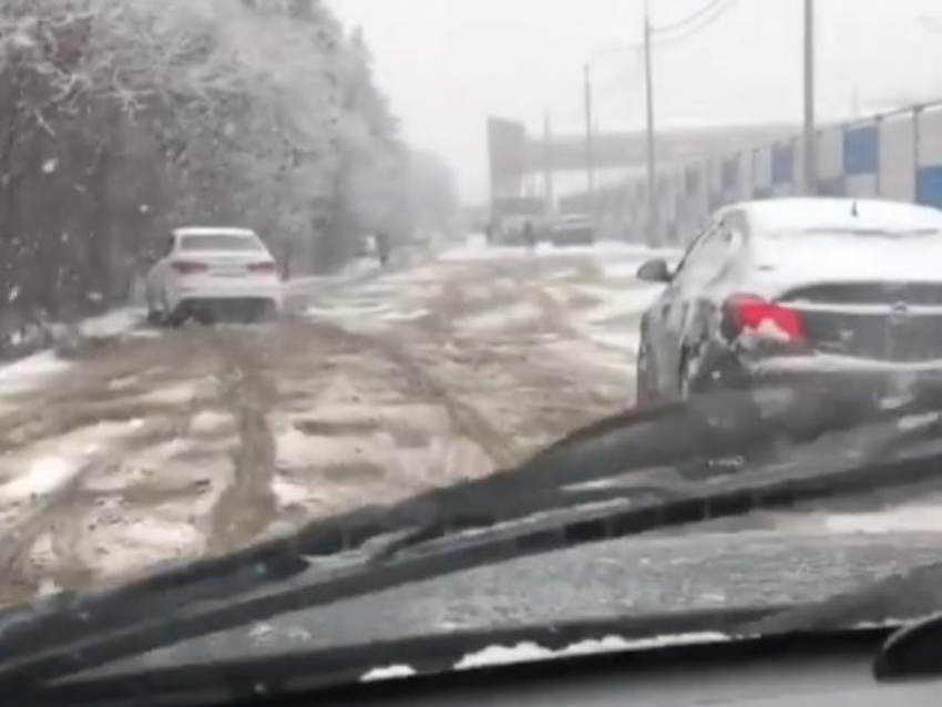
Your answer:
[[[0,603],[488,474],[616,411],[644,256],[469,246],[295,281],[277,325],[103,326],[0,369]]]

